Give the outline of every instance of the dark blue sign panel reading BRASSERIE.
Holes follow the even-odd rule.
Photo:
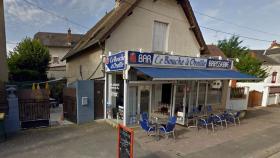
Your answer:
[[[217,59],[208,59],[207,68],[209,69],[231,69],[230,60],[217,60]]]

